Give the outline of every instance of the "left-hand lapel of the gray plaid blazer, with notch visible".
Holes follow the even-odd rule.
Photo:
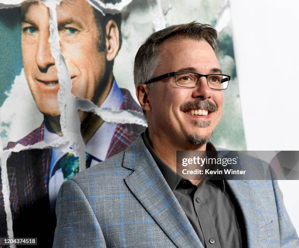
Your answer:
[[[123,166],[134,171],[128,188],[175,246],[203,248],[141,137],[126,150]]]

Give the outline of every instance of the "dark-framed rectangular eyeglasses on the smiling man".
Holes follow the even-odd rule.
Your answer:
[[[183,88],[195,88],[201,77],[205,77],[208,82],[208,86],[213,90],[226,90],[231,76],[225,74],[199,74],[190,71],[174,71],[170,73],[163,74],[158,77],[154,77],[145,84],[150,84],[157,82],[167,77],[175,77],[175,84]]]

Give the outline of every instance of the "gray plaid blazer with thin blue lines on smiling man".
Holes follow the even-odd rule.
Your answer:
[[[249,247],[299,247],[277,181],[227,180]],[[141,137],[64,182],[54,247],[203,248]]]

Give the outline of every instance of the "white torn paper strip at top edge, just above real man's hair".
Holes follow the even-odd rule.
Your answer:
[[[162,11],[161,0],[147,0],[149,5],[149,11],[152,16],[152,22],[154,24],[154,30],[159,31],[166,27],[165,17]]]

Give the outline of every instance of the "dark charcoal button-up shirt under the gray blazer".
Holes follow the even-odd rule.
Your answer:
[[[191,181],[178,176],[155,154],[148,129],[142,138],[204,247],[246,247],[243,216],[236,211],[239,206],[229,187],[226,187],[225,180],[212,176],[199,187],[193,185]],[[215,148],[209,143],[207,150]]]

